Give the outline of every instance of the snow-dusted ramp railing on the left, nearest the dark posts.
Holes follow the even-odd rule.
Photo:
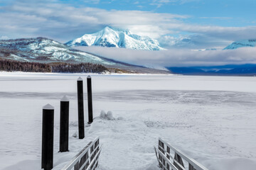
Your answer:
[[[89,142],[73,159],[61,170],[91,170],[96,169],[100,157],[102,145],[97,137],[93,142]]]

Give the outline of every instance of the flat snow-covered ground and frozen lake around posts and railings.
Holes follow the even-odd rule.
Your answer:
[[[85,74],[0,73],[0,169],[41,169],[42,107],[55,107],[54,169],[100,136],[100,170],[158,169],[164,138],[208,169],[255,169],[256,77],[92,75],[95,118],[78,140],[76,79]],[[86,87],[85,81],[84,86]],[[86,89],[84,89],[86,91]],[[70,152],[58,153],[59,103],[70,97]],[[85,93],[85,106],[86,104]],[[87,122],[87,107],[85,118]]]

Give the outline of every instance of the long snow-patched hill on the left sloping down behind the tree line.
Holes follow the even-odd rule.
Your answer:
[[[140,67],[105,57],[93,55],[88,52],[75,50],[48,38],[21,38],[15,40],[0,40],[0,60],[16,60],[20,62],[68,62],[101,64],[110,70],[139,73],[168,73],[163,70]]]

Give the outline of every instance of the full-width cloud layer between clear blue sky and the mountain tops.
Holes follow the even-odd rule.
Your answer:
[[[162,5],[168,2],[152,1]],[[127,28],[138,35],[156,38],[166,48],[224,47],[235,40],[256,38],[256,26],[208,26],[191,23],[193,16],[186,14],[107,10],[58,0],[4,1],[0,10],[0,37],[9,38],[43,36],[66,42],[105,26]]]

